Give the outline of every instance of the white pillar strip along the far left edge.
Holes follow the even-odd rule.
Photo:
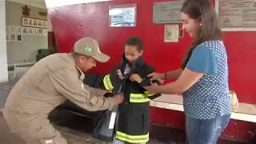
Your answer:
[[[0,0],[0,82],[8,81],[6,54],[6,1]]]

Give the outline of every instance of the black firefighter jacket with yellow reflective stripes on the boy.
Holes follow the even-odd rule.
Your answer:
[[[154,72],[154,68],[140,57],[132,64],[130,73],[124,75],[125,78],[121,80],[118,78],[117,70],[123,73],[126,64],[126,58],[123,56],[116,69],[103,78],[103,85],[106,90],[112,90],[114,93],[120,92],[121,86],[121,92],[125,97],[124,102],[118,106],[116,138],[124,142],[145,143],[149,140],[150,99],[160,94],[149,94],[142,85],[150,85],[150,78],[147,75]],[[131,74],[139,74],[143,79],[142,83],[131,82]]]

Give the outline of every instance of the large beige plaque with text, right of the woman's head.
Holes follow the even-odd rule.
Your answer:
[[[216,0],[218,22],[225,31],[256,31],[256,0]]]

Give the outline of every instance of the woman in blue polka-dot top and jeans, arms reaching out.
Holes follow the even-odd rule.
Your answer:
[[[181,69],[151,79],[173,78],[163,86],[146,86],[150,93],[182,94],[186,114],[186,141],[214,144],[230,121],[226,49],[210,0],[186,0],[182,29],[193,39]]]

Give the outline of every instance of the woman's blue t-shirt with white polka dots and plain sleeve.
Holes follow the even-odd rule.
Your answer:
[[[211,119],[230,114],[230,95],[226,49],[222,41],[198,45],[186,68],[204,75],[183,93],[186,116]]]

